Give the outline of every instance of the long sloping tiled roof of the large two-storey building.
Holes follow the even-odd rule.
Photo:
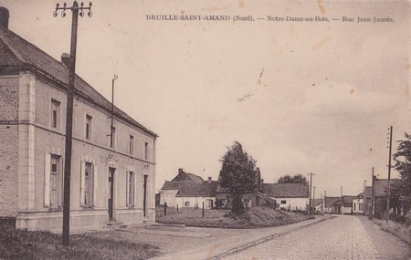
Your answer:
[[[45,75],[47,78],[52,78],[62,88],[68,86],[68,68],[53,57],[50,57],[26,41],[24,38],[17,36],[12,31],[0,26],[0,74],[6,68],[25,68],[31,69]],[[100,105],[100,107],[111,111],[111,102],[105,99],[96,89],[92,88],[86,81],[76,75],[75,79],[76,93],[84,96],[90,101]],[[133,120],[121,109],[114,107],[114,114],[123,120],[128,121],[134,127],[137,127],[144,132],[157,136],[151,130],[146,129],[142,124]]]

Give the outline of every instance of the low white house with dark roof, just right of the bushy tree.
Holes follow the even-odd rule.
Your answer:
[[[309,204],[306,183],[262,183],[262,192],[276,200],[280,209],[305,211]]]

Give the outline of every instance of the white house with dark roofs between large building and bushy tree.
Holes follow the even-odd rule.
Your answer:
[[[171,182],[164,182],[160,191],[160,204],[169,207],[214,208],[217,182],[208,177],[207,181],[193,173],[178,169],[177,176]]]

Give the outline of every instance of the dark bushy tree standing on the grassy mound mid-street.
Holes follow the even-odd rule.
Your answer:
[[[243,194],[254,193],[258,189],[256,161],[235,141],[221,159],[220,185],[232,195],[231,212],[244,213]]]

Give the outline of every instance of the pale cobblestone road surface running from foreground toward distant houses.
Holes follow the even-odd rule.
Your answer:
[[[381,231],[381,233],[384,232]],[[321,224],[311,225],[299,231],[276,237],[266,243],[227,255],[223,259],[371,260],[382,259],[382,257],[360,219],[356,216],[341,215]]]

